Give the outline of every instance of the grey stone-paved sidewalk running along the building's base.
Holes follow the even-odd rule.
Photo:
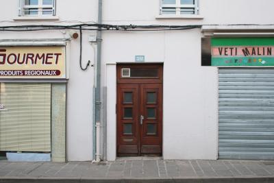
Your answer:
[[[274,182],[274,161],[161,160],[5,162],[0,182]]]

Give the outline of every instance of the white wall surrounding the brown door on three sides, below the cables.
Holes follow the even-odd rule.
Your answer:
[[[146,62],[164,62],[164,158],[216,159],[218,75],[215,67],[201,66],[200,30],[114,34],[103,34],[103,60],[106,63],[134,62],[135,55],[145,55]],[[116,157],[114,65],[107,66],[106,71],[108,160],[114,160]]]

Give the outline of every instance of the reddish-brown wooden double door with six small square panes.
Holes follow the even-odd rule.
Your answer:
[[[117,156],[162,156],[162,83],[126,79],[117,84]]]

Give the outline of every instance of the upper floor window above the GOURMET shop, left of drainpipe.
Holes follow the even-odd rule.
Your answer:
[[[19,16],[54,16],[55,0],[20,0]]]

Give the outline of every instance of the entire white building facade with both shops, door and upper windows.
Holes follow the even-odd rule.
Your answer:
[[[7,1],[2,154],[273,159],[272,1],[99,2]]]

